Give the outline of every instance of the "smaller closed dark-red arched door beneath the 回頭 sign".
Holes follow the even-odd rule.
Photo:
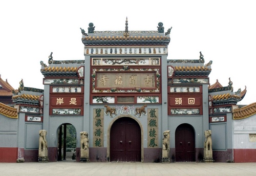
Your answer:
[[[193,126],[183,123],[175,130],[176,162],[195,161],[195,131]]]

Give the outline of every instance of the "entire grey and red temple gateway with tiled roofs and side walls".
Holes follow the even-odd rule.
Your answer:
[[[129,31],[126,18],[123,28],[81,29],[84,59],[51,53],[40,63],[44,90],[0,77],[12,99],[0,103],[0,162],[62,161],[71,150],[77,162],[203,162],[207,130],[207,161],[255,162],[256,103],[237,105],[246,87],[234,91],[228,77],[210,85],[202,52],[168,59],[172,27]]]

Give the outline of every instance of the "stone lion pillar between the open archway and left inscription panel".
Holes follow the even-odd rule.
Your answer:
[[[89,139],[86,131],[80,132],[80,162],[89,162]]]

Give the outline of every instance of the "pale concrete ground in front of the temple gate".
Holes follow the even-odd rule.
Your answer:
[[[72,160],[71,160],[72,161]],[[0,163],[0,175],[256,175],[256,163]]]

